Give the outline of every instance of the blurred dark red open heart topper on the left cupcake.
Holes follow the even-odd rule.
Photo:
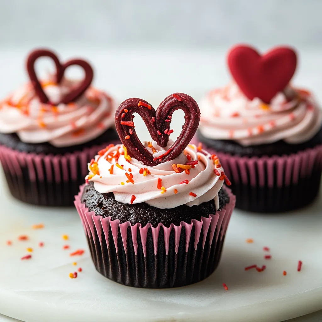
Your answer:
[[[56,66],[56,82],[59,84],[62,81],[63,75],[65,70],[72,65],[78,65],[80,66],[84,71],[85,71],[85,77],[83,81],[80,82],[80,84],[75,87],[73,90],[71,90],[70,93],[66,94],[60,103],[70,103],[78,99],[84,92],[87,90],[93,80],[94,72],[93,69],[91,68],[90,64],[84,60],[81,59],[72,59],[69,60],[68,62],[65,62],[64,64],[61,64],[59,62],[58,57],[51,51],[46,50],[46,49],[39,49],[31,52],[28,56],[27,59],[27,71],[29,74],[29,78],[31,80],[31,83],[33,84],[33,88],[36,92],[36,95],[39,97],[40,101],[42,103],[48,103],[52,104],[49,102],[49,99],[45,92],[43,91],[43,88],[37,78],[36,72],[35,72],[35,62],[39,57],[50,57]]]

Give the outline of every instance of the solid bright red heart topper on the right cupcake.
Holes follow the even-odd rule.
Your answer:
[[[284,90],[296,69],[296,53],[289,47],[277,47],[260,55],[248,46],[235,46],[228,54],[232,77],[249,98],[265,103]]]

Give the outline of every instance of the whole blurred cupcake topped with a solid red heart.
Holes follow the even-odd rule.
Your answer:
[[[234,81],[201,101],[193,142],[218,155],[240,209],[288,211],[317,196],[322,112],[311,92],[290,85],[296,64],[288,47],[260,55],[236,46],[228,53]]]

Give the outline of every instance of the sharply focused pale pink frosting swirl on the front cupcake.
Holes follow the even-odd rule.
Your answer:
[[[144,142],[155,157],[172,144],[169,140],[169,145],[162,148],[155,141]],[[199,205],[212,199],[218,209],[218,191],[225,179],[219,159],[194,145],[186,147],[174,160],[153,167],[128,156],[126,147],[111,145],[91,161],[89,170],[86,179],[94,181],[99,193],[113,192],[118,202],[146,202],[161,209]]]

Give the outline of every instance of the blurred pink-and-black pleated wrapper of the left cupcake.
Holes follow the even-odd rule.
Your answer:
[[[11,194],[26,203],[72,206],[88,174],[87,163],[100,149],[93,146],[65,155],[19,152],[0,145],[0,161]]]

